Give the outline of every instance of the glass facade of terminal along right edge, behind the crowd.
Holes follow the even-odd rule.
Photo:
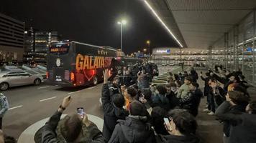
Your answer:
[[[256,11],[248,14],[239,24],[224,34],[221,39],[209,49],[209,65],[223,65],[227,70],[241,69],[246,80],[256,85],[255,40]],[[214,51],[224,50],[216,53]],[[223,54],[222,54],[223,53]]]

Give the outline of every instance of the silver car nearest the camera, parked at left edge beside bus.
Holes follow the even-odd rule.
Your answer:
[[[9,87],[35,84],[43,82],[42,75],[29,74],[25,71],[3,71],[0,73],[0,90],[7,90]]]

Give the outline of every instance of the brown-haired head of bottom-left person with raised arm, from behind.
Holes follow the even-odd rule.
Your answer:
[[[83,121],[78,114],[68,114],[60,121],[60,134],[66,142],[78,142],[81,138]]]

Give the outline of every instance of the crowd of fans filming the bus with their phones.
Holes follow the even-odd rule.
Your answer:
[[[203,97],[206,109],[223,124],[224,143],[256,142],[256,102],[250,101],[241,71],[209,69],[168,73],[168,84],[150,84],[156,71],[143,64],[116,73],[104,70],[101,132],[86,114],[60,119],[72,98],[63,99],[55,114],[35,134],[35,142],[199,143],[196,116]],[[205,82],[201,92],[198,78]],[[223,84],[223,86],[221,86]],[[0,132],[1,134],[1,132]]]

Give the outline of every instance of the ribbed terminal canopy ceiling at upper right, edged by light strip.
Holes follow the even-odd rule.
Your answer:
[[[183,47],[208,48],[247,14],[255,0],[147,0]]]

